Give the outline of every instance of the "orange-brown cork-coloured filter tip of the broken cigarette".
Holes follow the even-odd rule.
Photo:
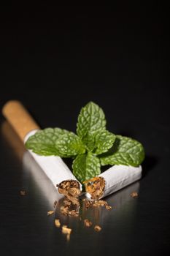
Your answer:
[[[2,113],[22,141],[28,132],[33,129],[39,129],[36,121],[34,121],[26,108],[18,100],[7,102],[4,108],[2,108]]]

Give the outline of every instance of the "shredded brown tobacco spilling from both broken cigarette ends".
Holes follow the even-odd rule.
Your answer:
[[[58,184],[57,187],[58,192],[65,196],[63,199],[63,204],[60,208],[61,214],[79,217],[79,219],[82,220],[82,217],[80,217],[80,184],[77,181],[68,180],[61,182],[61,184]],[[83,205],[86,209],[91,207],[104,207],[107,210],[112,209],[112,206],[109,206],[107,201],[99,200],[104,193],[104,187],[105,181],[102,177],[92,178],[85,182],[86,192],[90,193],[91,195],[91,200],[87,198],[82,199]],[[83,223],[85,227],[91,227],[93,225],[93,222],[91,222],[89,219],[84,219]],[[61,223],[59,222],[59,219],[55,219],[55,226],[60,227],[60,225]],[[99,225],[95,225],[94,230],[99,232],[101,231],[101,227]],[[62,232],[66,233],[67,236],[70,236],[72,229],[66,225],[63,225]],[[69,240],[69,238],[67,240]]]

